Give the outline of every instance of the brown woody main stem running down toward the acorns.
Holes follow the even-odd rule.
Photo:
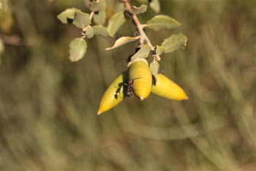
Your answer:
[[[122,2],[124,3],[124,6],[126,7],[127,11],[129,11],[129,9],[131,8],[131,5],[129,4],[129,1],[127,0],[122,0]],[[138,31],[140,32],[140,45],[143,45],[143,42],[146,41],[147,44],[151,47],[152,51],[155,51],[154,46],[151,44],[150,40],[148,39],[145,31],[143,31],[143,28],[146,26],[146,24],[141,24],[140,20],[138,20],[137,15],[132,15],[132,20],[135,22]],[[154,60],[160,61],[160,56],[158,55],[154,55]]]

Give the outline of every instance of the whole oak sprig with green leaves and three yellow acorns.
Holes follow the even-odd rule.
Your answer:
[[[82,36],[73,39],[69,44],[70,61],[78,61],[86,54],[86,38],[91,39],[94,35],[99,35],[115,39],[116,33],[118,33],[121,26],[123,26],[128,19],[132,20],[137,28],[134,37],[119,37],[112,47],[105,48],[105,50],[113,50],[129,42],[138,41],[135,53],[129,56],[127,60],[128,69],[111,83],[110,87],[107,88],[105,94],[102,96],[97,113],[98,115],[110,110],[110,108],[116,106],[116,104],[121,102],[125,97],[129,97],[132,93],[131,91],[133,91],[135,96],[140,100],[146,99],[151,92],[166,99],[187,99],[187,95],[182,88],[167,77],[159,74],[160,55],[162,53],[172,53],[175,50],[184,48],[187,43],[187,37],[184,34],[173,34],[164,39],[161,45],[154,46],[144,31],[146,27],[154,31],[176,28],[181,26],[181,23],[178,23],[178,21],[167,15],[155,15],[146,23],[141,24],[137,15],[146,12],[148,6],[141,4],[140,7],[135,7],[131,6],[129,0],[120,0],[120,2],[124,4],[124,11],[117,12],[111,16],[110,20],[108,20],[108,26],[105,27],[103,26],[106,19],[105,0],[83,1],[91,10],[90,13],[82,12],[80,9],[76,8],[69,8],[57,16],[57,18],[61,20],[61,23],[72,23],[82,30]],[[151,7],[154,12],[159,12],[159,0],[150,1],[149,7]],[[150,54],[153,56],[153,60],[148,64]],[[133,80],[136,80],[135,83],[133,83]],[[127,85],[127,88],[125,88],[124,85]],[[118,94],[116,94],[116,92],[118,92]]]

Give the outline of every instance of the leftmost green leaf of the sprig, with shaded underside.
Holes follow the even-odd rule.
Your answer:
[[[61,23],[72,23],[74,20],[75,12],[81,12],[80,9],[77,8],[67,8],[64,12],[61,12],[57,15],[57,18],[61,21]]]

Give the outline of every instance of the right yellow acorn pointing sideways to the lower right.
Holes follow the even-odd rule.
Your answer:
[[[172,100],[188,99],[184,90],[165,75],[157,75],[157,83],[153,84],[151,92],[157,96]]]

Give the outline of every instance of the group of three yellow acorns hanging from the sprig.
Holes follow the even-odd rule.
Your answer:
[[[105,91],[99,103],[98,115],[110,110],[120,103],[125,96],[128,80],[134,80],[132,91],[139,99],[143,100],[152,92],[157,96],[172,100],[188,99],[184,90],[165,75],[158,74],[155,83],[152,81],[151,71],[148,68],[146,59],[139,58],[128,64],[127,71],[119,75]]]

